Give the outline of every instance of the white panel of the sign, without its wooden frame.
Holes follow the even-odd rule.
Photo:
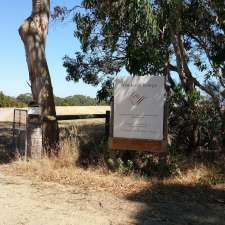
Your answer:
[[[118,77],[113,137],[163,140],[164,77]]]

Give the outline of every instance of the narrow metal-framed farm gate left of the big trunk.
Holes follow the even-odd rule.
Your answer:
[[[27,157],[27,118],[25,109],[14,109],[13,115],[13,149],[16,154]]]

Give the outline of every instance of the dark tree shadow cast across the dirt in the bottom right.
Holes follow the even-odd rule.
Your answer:
[[[137,225],[225,225],[225,185],[158,183],[127,198],[144,205]]]

